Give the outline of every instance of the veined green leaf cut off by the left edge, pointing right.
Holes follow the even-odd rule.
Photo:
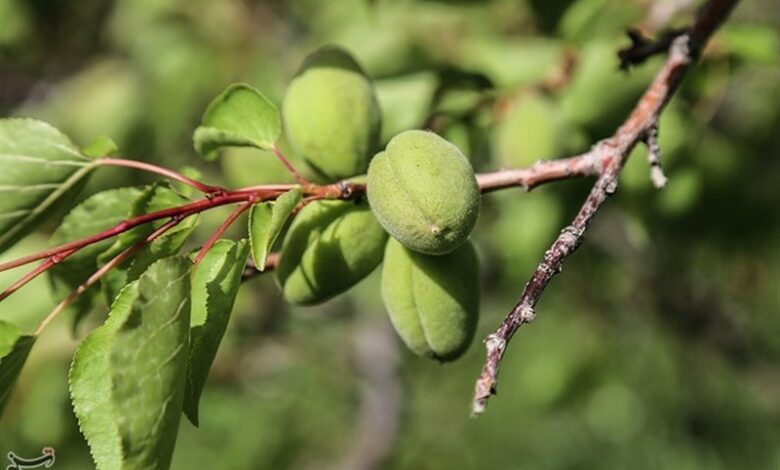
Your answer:
[[[62,132],[26,118],[0,119],[0,252],[81,188],[93,163]]]

